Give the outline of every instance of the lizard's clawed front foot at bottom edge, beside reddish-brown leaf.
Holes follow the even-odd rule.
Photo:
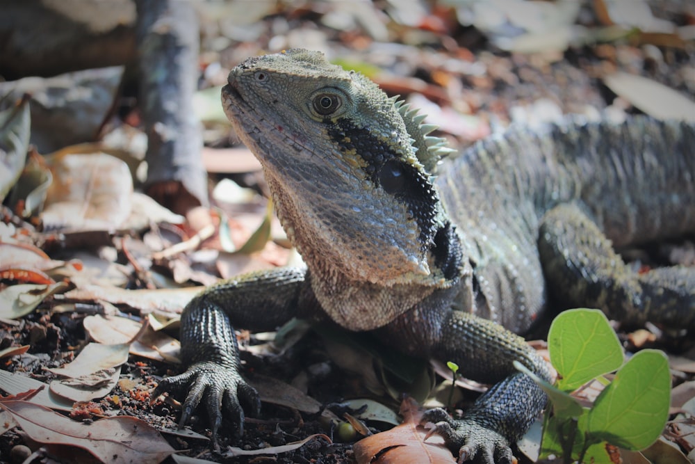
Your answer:
[[[434,423],[427,438],[440,435],[454,454],[458,451],[457,463],[473,461],[484,464],[516,464],[508,440],[500,433],[482,426],[474,419],[452,419],[448,413],[435,408],[428,410],[420,424]]]

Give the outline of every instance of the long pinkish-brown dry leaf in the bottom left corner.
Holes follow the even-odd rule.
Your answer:
[[[87,425],[27,401],[0,400],[0,406],[51,454],[63,454],[67,445],[104,463],[157,464],[174,453],[158,431],[136,417],[108,417]]]

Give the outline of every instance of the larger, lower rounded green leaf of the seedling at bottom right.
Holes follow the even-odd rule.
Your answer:
[[[666,356],[658,350],[642,350],[596,398],[589,412],[589,433],[625,449],[644,449],[664,430],[670,403]]]

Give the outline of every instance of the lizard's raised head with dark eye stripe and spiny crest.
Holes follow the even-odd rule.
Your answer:
[[[234,68],[222,106],[310,270],[379,285],[451,278],[441,262],[452,232],[430,174],[449,149],[407,105],[292,49]]]

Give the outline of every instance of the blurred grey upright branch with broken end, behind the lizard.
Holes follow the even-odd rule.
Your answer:
[[[206,201],[197,89],[198,25],[188,1],[136,0],[140,109],[147,132],[147,192],[185,212]]]

